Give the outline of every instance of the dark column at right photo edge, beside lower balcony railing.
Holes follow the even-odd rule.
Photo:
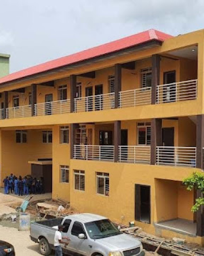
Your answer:
[[[196,167],[203,169],[204,115],[197,115],[196,123]]]

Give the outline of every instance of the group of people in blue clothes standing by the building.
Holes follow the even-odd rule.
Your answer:
[[[29,194],[44,194],[44,181],[40,179],[32,178],[32,176],[25,176],[17,178],[11,174],[6,176],[4,182],[4,194],[15,194],[18,196],[29,195]]]

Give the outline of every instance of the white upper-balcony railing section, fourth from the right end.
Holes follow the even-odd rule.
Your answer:
[[[35,116],[70,113],[70,99],[35,104]]]

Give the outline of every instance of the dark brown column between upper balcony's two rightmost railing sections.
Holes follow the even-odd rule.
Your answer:
[[[160,56],[152,55],[151,104],[157,101],[157,86],[160,84]]]

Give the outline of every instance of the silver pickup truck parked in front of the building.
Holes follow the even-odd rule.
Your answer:
[[[31,223],[31,240],[39,243],[42,255],[49,255],[54,248],[57,226],[62,224],[62,236],[68,237],[62,250],[67,255],[87,256],[144,256],[141,242],[122,233],[107,218],[93,214],[76,214],[64,219],[43,220]]]

